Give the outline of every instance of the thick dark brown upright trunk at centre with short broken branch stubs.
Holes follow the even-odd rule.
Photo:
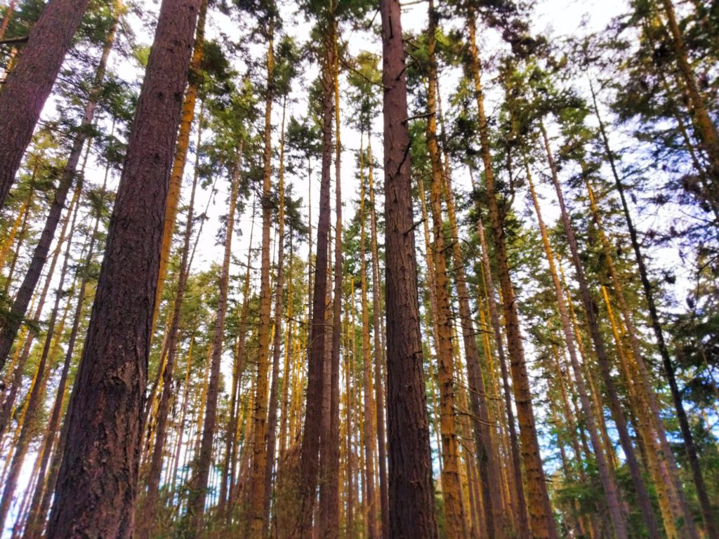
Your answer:
[[[385,305],[390,537],[436,538],[429,423],[419,326],[407,130],[407,83],[398,0],[380,1],[385,133]]]

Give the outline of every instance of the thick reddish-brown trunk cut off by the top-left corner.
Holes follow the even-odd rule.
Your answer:
[[[0,91],[0,208],[5,205],[22,155],[30,143],[90,0],[52,0],[27,38],[17,65]],[[4,357],[0,356],[0,369]]]

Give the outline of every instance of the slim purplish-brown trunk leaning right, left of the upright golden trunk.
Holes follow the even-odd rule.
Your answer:
[[[207,394],[205,402],[205,416],[202,423],[202,438],[197,455],[197,468],[191,494],[188,499],[188,515],[190,527],[195,536],[203,530],[203,515],[209,484],[210,465],[212,461],[212,444],[217,423],[217,399],[219,397],[220,364],[222,359],[222,346],[224,343],[224,320],[227,314],[227,288],[229,285],[229,264],[232,255],[232,235],[234,233],[235,211],[237,209],[237,196],[239,193],[240,169],[242,167],[242,140],[237,147],[234,167],[232,169],[232,185],[229,195],[229,211],[227,213],[227,230],[224,241],[224,257],[222,259],[222,272],[219,279],[219,300],[217,303],[214,333],[212,337],[212,355],[209,369]]]

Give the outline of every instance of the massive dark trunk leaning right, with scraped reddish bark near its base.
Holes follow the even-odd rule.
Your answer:
[[[162,218],[199,4],[160,8],[68,410],[50,538],[132,535]]]

